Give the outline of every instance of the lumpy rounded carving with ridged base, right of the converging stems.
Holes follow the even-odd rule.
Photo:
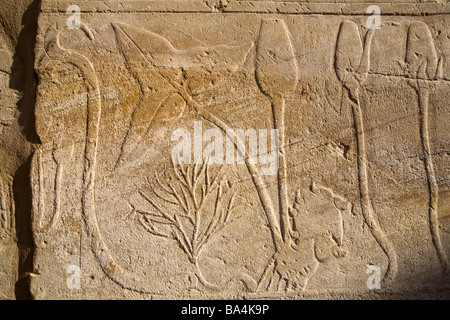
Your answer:
[[[275,253],[265,271],[273,276],[267,284],[264,274],[259,287],[304,291],[321,263],[345,257],[342,214],[350,207],[347,200],[314,182],[309,189],[298,190],[289,208],[291,242]]]

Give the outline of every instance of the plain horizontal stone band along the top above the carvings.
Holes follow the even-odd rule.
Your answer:
[[[221,4],[220,4],[221,3]],[[66,12],[70,5],[78,5],[86,13],[131,13],[131,12],[192,12],[192,13],[261,13],[261,14],[330,14],[365,15],[368,5],[376,4],[384,15],[421,16],[449,14],[450,5],[429,0],[368,0],[365,2],[339,1],[201,1],[201,0],[43,0],[44,13]]]

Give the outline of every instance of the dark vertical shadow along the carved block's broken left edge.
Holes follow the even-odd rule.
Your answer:
[[[22,30],[16,42],[13,57],[10,88],[20,92],[17,103],[18,123],[22,141],[17,151],[21,163],[14,175],[14,202],[16,207],[16,237],[19,250],[18,281],[15,285],[16,299],[32,299],[30,273],[33,269],[33,236],[31,227],[31,144],[39,143],[35,130],[35,103],[37,78],[34,72],[34,47],[37,34],[37,19],[40,1],[34,0],[22,17]]]

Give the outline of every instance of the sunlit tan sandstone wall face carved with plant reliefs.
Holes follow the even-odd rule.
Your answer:
[[[43,0],[2,296],[450,298],[450,5],[328,2]]]

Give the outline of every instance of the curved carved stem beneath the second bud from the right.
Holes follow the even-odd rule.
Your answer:
[[[369,227],[375,240],[381,246],[383,252],[388,257],[388,268],[383,278],[383,284],[387,286],[395,277],[397,273],[397,255],[395,248],[388,237],[384,234],[377,219],[375,218],[375,212],[372,207],[369,194],[369,177],[367,169],[367,153],[366,142],[364,135],[364,121],[362,116],[361,104],[359,93],[355,92],[353,95],[355,100],[351,100],[353,121],[356,130],[356,143],[357,143],[357,155],[358,155],[358,180],[359,180],[359,192],[361,198],[361,211],[364,217],[364,221]]]

